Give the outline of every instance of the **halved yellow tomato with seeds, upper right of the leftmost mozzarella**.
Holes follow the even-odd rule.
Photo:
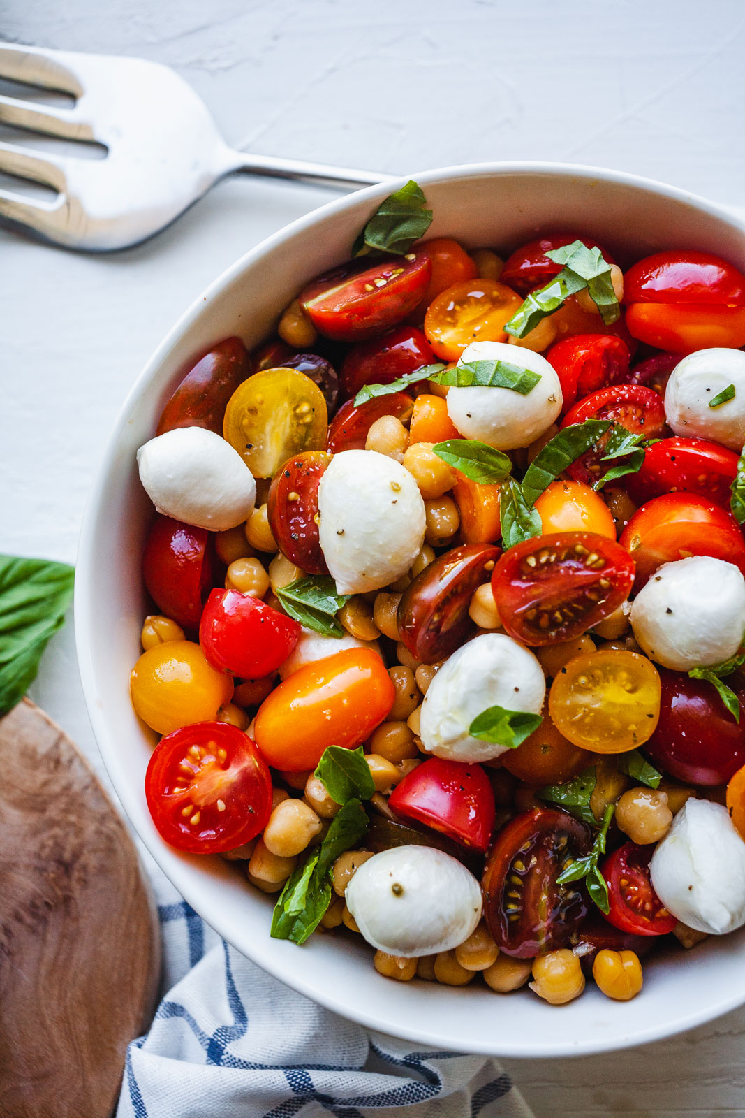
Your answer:
[[[255,477],[274,477],[303,451],[326,447],[328,414],[323,392],[297,369],[265,369],[236,389],[222,434]]]

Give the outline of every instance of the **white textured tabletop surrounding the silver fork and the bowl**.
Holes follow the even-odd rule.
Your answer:
[[[742,0],[6,0],[0,38],[168,63],[257,151],[390,172],[565,160],[745,206]],[[101,258],[0,230],[1,551],[74,560],[108,430],[157,341],[236,256],[327,198],[233,180]],[[34,694],[97,764],[71,627]],[[509,1070],[541,1118],[745,1115],[745,1011]]]

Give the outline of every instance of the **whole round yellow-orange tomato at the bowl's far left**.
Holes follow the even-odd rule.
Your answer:
[[[230,702],[232,679],[207,663],[193,641],[169,641],[143,652],[132,669],[130,690],[136,713],[157,733],[192,722],[212,722]]]

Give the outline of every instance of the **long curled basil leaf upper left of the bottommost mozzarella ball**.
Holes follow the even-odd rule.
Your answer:
[[[336,813],[321,846],[285,882],[271,916],[273,939],[304,944],[315,931],[331,902],[331,869],[340,854],[362,839],[367,823],[359,799],[347,800]]]

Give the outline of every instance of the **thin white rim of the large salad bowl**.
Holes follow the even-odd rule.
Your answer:
[[[112,774],[107,762],[107,752],[102,746],[103,741],[109,740],[109,726],[101,704],[96,701],[94,667],[89,655],[89,643],[87,639],[87,634],[92,628],[95,613],[95,594],[93,589],[95,586],[95,568],[93,563],[93,553],[98,523],[105,509],[104,496],[108,485],[112,467],[116,461],[120,438],[130,421],[132,408],[142,395],[145,386],[150,382],[151,378],[173,349],[175,343],[181,339],[182,334],[189,329],[192,321],[198,314],[202,313],[206,305],[209,305],[214,300],[219,299],[223,291],[255,262],[259,260],[267,254],[275,252],[281,245],[292,241],[296,234],[313,227],[317,221],[323,220],[323,218],[329,214],[344,214],[346,210],[357,207],[361,201],[374,202],[382,200],[410,178],[416,179],[421,187],[427,187],[428,184],[439,184],[461,178],[490,178],[513,174],[558,176],[567,180],[574,179],[585,181],[596,179],[606,183],[639,188],[647,192],[657,193],[672,201],[690,205],[695,209],[703,211],[708,216],[718,218],[733,227],[739,227],[741,229],[745,227],[745,212],[738,212],[734,208],[711,202],[707,198],[693,193],[691,191],[687,191],[655,179],[649,179],[643,176],[631,174],[625,171],[617,171],[588,164],[542,160],[462,163],[416,172],[409,176],[400,176],[399,178],[388,180],[378,186],[365,187],[364,189],[355,190],[342,198],[333,199],[324,206],[313,209],[308,214],[295,219],[289,225],[286,225],[281,229],[271,234],[269,237],[266,237],[258,245],[243,253],[238,259],[229,265],[179,316],[174,325],[169,330],[166,335],[145,362],[142,371],[132,385],[132,388],[122,404],[117,418],[106,440],[103,454],[96,464],[94,481],[92,483],[84,511],[78,542],[77,572],[75,580],[76,652],[88,717],[98,751],[109,777],[112,777]],[[240,954],[243,954],[242,949],[238,948],[233,942],[232,930],[230,927],[225,925],[221,912],[216,911],[213,915],[211,913],[209,919],[203,916],[199,900],[199,885],[197,883],[192,887],[193,874],[190,864],[188,862],[169,860],[166,869],[163,863],[163,859],[161,858],[162,843],[156,840],[150,841],[150,837],[142,835],[132,822],[133,811],[131,811],[131,797],[127,789],[120,788],[116,784],[114,784],[114,788],[133,831],[139,835],[143,845],[152,854],[161,871],[166,875],[166,878],[170,879],[181,897],[222,939],[231,944],[231,946],[233,946],[236,950],[239,950]],[[306,980],[303,976],[295,975],[292,980],[288,979],[281,963],[277,960],[275,955],[273,955],[271,944],[273,941],[268,936],[266,944],[257,944],[256,950],[250,955],[252,961],[255,961],[264,970],[271,974],[275,978],[278,978],[285,985],[290,986],[298,993],[308,997],[311,1001],[323,1005],[325,1008],[337,1013],[347,1020],[353,1020],[367,1029],[386,1033],[389,1035],[395,1035],[397,1038],[410,1041],[414,1044],[430,1045],[437,1050],[441,1050],[445,1046],[448,1051],[453,1052],[468,1052],[518,1059],[544,1059],[551,1057],[566,1058],[613,1052],[636,1046],[638,1044],[646,1044],[652,1041],[665,1040],[667,1038],[678,1035],[679,1033],[694,1029],[697,1025],[713,1021],[730,1010],[737,1008],[745,1002],[745,992],[735,992],[730,996],[719,998],[714,1004],[710,1004],[699,1011],[681,1013],[672,1026],[665,1025],[660,1027],[659,1024],[653,1024],[646,1027],[634,1029],[627,1035],[615,1038],[604,1038],[599,1035],[594,1041],[581,1042],[579,1044],[577,1042],[572,1042],[571,1039],[564,1039],[562,1041],[562,1031],[556,1030],[555,1041],[537,1042],[529,1049],[520,1043],[510,1043],[508,1036],[499,1042],[498,1048],[495,1048],[495,1044],[490,1042],[489,1036],[486,1033],[481,1042],[477,1044],[470,1043],[468,1048],[459,1048],[457,1043],[452,1046],[453,1039],[451,1036],[443,1040],[442,1032],[437,1027],[424,1030],[421,1027],[412,1027],[407,1025],[405,1021],[402,1020],[400,1022],[397,1021],[395,1031],[392,1032],[391,1022],[389,1020],[382,1020],[374,1013],[367,1012],[364,1004],[357,1004],[352,1014],[347,1004],[331,994],[324,995],[316,986],[313,985],[313,983]]]

